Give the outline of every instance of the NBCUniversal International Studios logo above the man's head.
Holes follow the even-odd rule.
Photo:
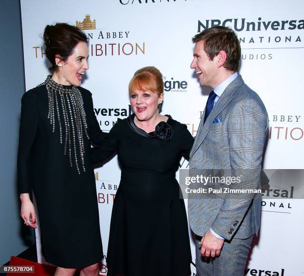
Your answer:
[[[267,20],[258,17],[198,20],[197,32],[214,26],[227,26],[237,32],[242,48],[242,60],[272,60],[274,53],[267,49],[303,47],[304,20]],[[250,52],[261,49],[259,52]],[[249,51],[247,51],[249,50]],[[244,52],[245,51],[245,52]]]

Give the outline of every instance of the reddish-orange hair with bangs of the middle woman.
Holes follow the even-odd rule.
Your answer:
[[[163,93],[163,81],[160,71],[154,66],[147,66],[135,72],[129,83],[129,93],[136,90],[155,92],[158,96]]]

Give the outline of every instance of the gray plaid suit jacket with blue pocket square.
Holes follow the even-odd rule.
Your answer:
[[[216,118],[220,120],[214,121]],[[190,173],[196,169],[227,169],[236,176],[241,171],[241,184],[257,188],[268,131],[267,111],[257,93],[239,75],[218,99],[205,123],[203,120],[204,114],[190,152]],[[199,236],[212,227],[227,240],[248,238],[258,233],[260,214],[261,199],[253,199],[252,194],[242,198],[222,194],[216,199],[188,199],[190,227]]]

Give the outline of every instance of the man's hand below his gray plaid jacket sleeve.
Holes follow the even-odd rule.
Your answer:
[[[215,237],[210,230],[208,230],[202,237],[201,241],[201,255],[203,257],[218,257],[221,254],[224,240]]]

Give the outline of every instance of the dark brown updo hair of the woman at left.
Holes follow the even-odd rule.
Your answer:
[[[46,46],[45,53],[51,62],[52,72],[57,70],[55,56],[60,55],[62,61],[67,61],[73,54],[76,45],[83,41],[88,44],[88,38],[79,28],[67,23],[56,23],[47,25],[44,29],[43,40]]]

